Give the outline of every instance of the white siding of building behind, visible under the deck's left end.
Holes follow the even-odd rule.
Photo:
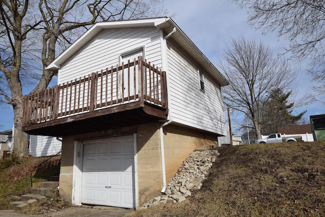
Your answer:
[[[61,151],[62,142],[52,136],[30,135],[29,154],[34,157],[52,156]]]

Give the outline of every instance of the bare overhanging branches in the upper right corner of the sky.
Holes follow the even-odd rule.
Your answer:
[[[310,0],[234,0],[249,9],[249,22],[264,33],[277,31],[290,41],[287,52],[296,60],[310,58],[309,73],[325,93],[325,5]]]

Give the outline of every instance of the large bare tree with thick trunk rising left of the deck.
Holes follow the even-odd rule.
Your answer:
[[[22,132],[23,86],[47,88],[53,72],[46,67],[88,26],[98,21],[159,16],[163,0],[0,0],[1,101],[14,111],[14,153],[28,153]]]

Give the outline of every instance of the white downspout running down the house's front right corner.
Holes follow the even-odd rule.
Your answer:
[[[165,61],[163,62],[164,68],[167,69],[167,42],[166,39],[168,39],[173,33],[176,32],[176,28],[174,27],[173,30],[166,35],[164,39],[164,44],[161,45],[161,47],[164,46],[164,49],[161,49],[162,55],[164,56]],[[166,73],[167,76],[167,90],[169,90],[169,76],[168,73]],[[170,103],[170,93],[167,92],[168,95],[168,121],[164,124],[161,124],[159,127],[159,137],[160,137],[160,153],[161,153],[161,172],[163,173],[163,189],[161,189],[161,193],[165,194],[167,182],[166,182],[166,164],[165,164],[165,146],[164,146],[164,127],[172,123],[172,116],[171,116],[171,103]]]

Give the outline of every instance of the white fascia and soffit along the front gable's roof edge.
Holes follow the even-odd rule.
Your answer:
[[[166,22],[164,18],[152,18],[152,19],[137,19],[137,20],[120,20],[120,21],[105,21],[95,23],[89,30],[87,30],[76,42],[74,42],[67,50],[62,52],[52,63],[50,63],[46,69],[57,71],[60,69],[61,64],[69,59],[74,53],[82,48],[87,42],[89,42],[96,34],[103,29],[112,28],[134,28],[134,27],[154,27],[162,22]]]

